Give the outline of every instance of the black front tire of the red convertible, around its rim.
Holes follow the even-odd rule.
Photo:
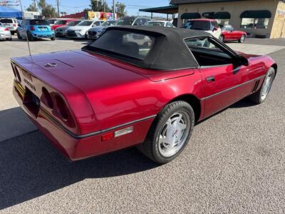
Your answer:
[[[273,75],[272,76],[273,79],[272,79],[272,81],[271,81],[271,83],[269,85],[269,91],[270,91],[272,83],[274,82],[274,78],[275,78],[275,75],[276,75],[276,71],[272,67],[269,68],[269,70],[267,71],[266,76],[264,78],[264,81],[262,83],[262,86],[259,88],[259,90],[254,92],[254,93],[252,93],[250,96],[248,96],[249,101],[252,101],[252,103],[255,103],[255,104],[260,104],[260,103],[263,103],[266,100],[266,98],[267,98],[267,96],[269,94],[269,91],[267,91],[267,93],[266,93],[266,95],[264,97],[264,95],[262,93],[262,90],[264,89],[264,86],[266,84],[266,78],[268,78],[270,75]]]

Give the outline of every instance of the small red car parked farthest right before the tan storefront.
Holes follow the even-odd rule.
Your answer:
[[[231,25],[226,24],[221,26],[222,34],[219,37],[221,41],[239,41],[244,43],[247,38],[247,33],[244,31],[236,31]]]

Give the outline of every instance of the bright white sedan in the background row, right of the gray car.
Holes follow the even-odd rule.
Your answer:
[[[67,29],[66,31],[66,36],[68,38],[72,39],[87,39],[88,35],[87,32],[89,29],[95,27],[95,26],[100,26],[100,24],[103,24],[104,21],[102,20],[97,20],[97,21],[90,21],[90,20],[85,20],[81,21],[76,26],[71,26],[70,28]]]

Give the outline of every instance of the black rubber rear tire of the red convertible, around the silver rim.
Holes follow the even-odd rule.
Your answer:
[[[167,120],[170,119],[177,112],[187,113],[187,118],[189,119],[186,126],[187,128],[185,128],[185,136],[183,137],[185,141],[182,144],[182,147],[173,156],[165,157],[162,155],[162,153],[160,153],[160,148],[158,148],[160,146],[160,133],[162,132],[162,128],[165,127],[165,123],[167,123]],[[138,145],[137,148],[141,153],[143,153],[145,156],[150,158],[152,161],[155,161],[156,163],[168,163],[175,159],[177,156],[179,156],[180,153],[182,153],[182,151],[184,150],[185,146],[187,146],[187,143],[194,129],[194,124],[195,113],[189,103],[186,103],[185,101],[176,101],[170,103],[165,106],[165,108],[163,108],[162,111],[157,115],[155,121],[153,121],[152,126],[150,127],[150,131],[148,131],[147,133],[147,138],[143,143]],[[176,131],[174,133],[175,135]]]

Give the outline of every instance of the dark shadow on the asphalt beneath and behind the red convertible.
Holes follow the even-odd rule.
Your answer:
[[[0,142],[0,210],[86,178],[138,173],[157,166],[136,148],[71,163],[39,131],[33,131]]]

